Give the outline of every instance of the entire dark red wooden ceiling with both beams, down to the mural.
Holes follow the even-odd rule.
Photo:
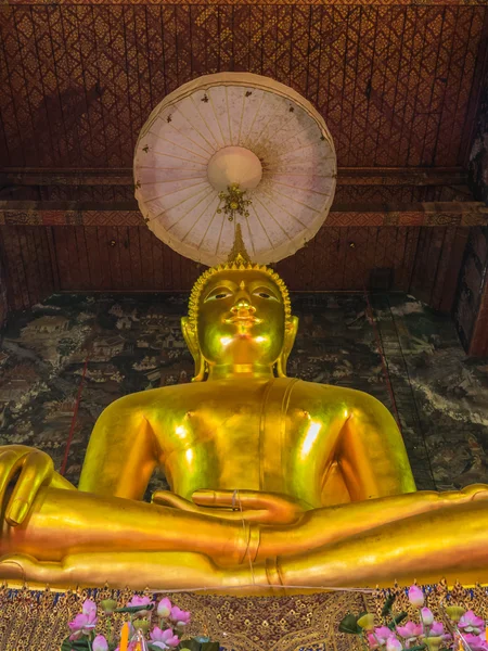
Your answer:
[[[197,267],[137,212],[136,140],[181,84],[247,71],[309,99],[337,150],[330,219],[279,266],[291,289],[361,290],[375,278],[449,310],[464,231],[486,222],[465,171],[486,4],[11,0],[0,10],[0,261],[11,307],[59,290],[188,289]]]

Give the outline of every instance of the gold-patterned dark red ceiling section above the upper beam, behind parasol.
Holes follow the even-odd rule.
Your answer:
[[[248,71],[317,106],[339,166],[463,165],[487,13],[466,4],[4,5],[0,164],[130,167],[168,92]]]

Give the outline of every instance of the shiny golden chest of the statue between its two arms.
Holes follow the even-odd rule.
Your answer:
[[[198,488],[247,488],[320,499],[326,432],[294,403],[293,386],[202,385],[176,401],[163,454],[171,488],[187,498]]]

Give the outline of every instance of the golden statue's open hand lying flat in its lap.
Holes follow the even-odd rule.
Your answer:
[[[223,520],[257,522],[260,524],[293,524],[310,507],[279,493],[259,490],[195,490],[189,501],[169,490],[157,490],[153,502],[210,515]]]

